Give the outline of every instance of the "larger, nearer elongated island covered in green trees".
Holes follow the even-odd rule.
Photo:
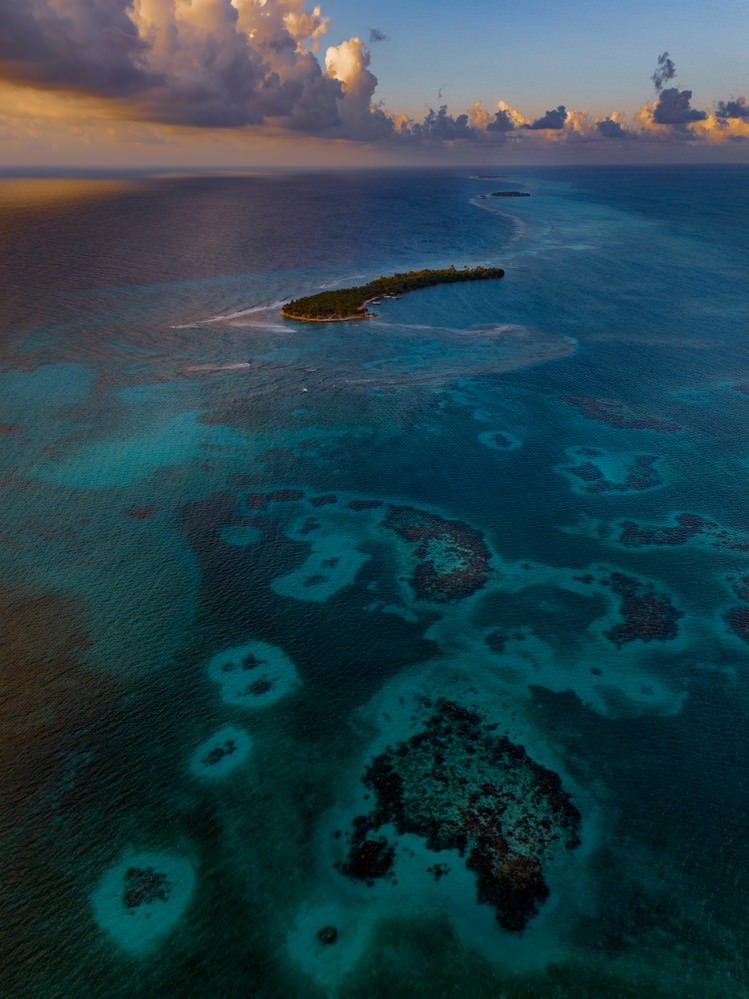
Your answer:
[[[367,305],[382,298],[398,298],[406,291],[429,288],[437,284],[451,284],[454,281],[487,281],[504,277],[501,267],[447,267],[442,270],[408,271],[406,274],[391,274],[389,277],[375,278],[369,284],[353,288],[338,288],[335,291],[321,291],[317,295],[296,298],[287,302],[281,309],[284,319],[296,319],[307,323],[345,322],[350,319],[369,319],[374,313],[367,311]]]

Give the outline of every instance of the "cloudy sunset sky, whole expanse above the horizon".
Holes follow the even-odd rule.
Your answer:
[[[749,162],[749,3],[0,0],[0,167]]]

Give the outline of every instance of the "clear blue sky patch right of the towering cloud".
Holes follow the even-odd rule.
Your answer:
[[[749,3],[696,0],[328,0],[331,39],[370,28],[377,96],[416,115],[442,92],[451,109],[505,100],[529,115],[566,104],[596,114],[652,98],[656,58],[670,52],[698,103],[746,93]],[[702,104],[700,104],[702,106]]]

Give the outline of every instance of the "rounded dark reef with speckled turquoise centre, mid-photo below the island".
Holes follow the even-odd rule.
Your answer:
[[[489,549],[481,532],[463,521],[391,506],[382,523],[413,548],[416,567],[408,582],[417,597],[440,603],[462,600],[486,583]]]

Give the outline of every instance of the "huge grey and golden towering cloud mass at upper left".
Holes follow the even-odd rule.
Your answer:
[[[340,131],[343,104],[350,112],[376,79],[358,40],[360,79],[323,70],[314,53],[328,20],[304,0],[5,3],[0,80],[113,99],[123,116],[166,124],[230,128],[274,118]]]

